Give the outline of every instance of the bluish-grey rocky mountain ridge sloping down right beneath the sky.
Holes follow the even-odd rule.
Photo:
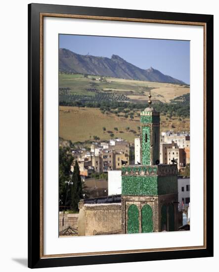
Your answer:
[[[66,48],[59,48],[59,71],[187,85],[153,67],[141,69],[116,54],[111,58],[81,55]]]

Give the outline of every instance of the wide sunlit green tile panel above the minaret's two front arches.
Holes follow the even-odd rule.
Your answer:
[[[123,195],[158,195],[157,177],[122,176]]]

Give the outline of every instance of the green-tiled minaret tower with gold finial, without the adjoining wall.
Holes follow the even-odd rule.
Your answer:
[[[122,233],[178,230],[177,165],[159,163],[160,114],[140,113],[141,163],[122,167]]]

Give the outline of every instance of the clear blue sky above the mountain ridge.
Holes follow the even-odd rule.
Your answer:
[[[133,65],[153,67],[165,75],[190,83],[189,41],[59,35],[59,48],[75,53],[111,57],[119,55]]]

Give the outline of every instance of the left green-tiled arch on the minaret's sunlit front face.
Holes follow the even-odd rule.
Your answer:
[[[139,222],[138,222],[138,208],[136,205],[131,204],[128,210],[128,233],[138,233],[139,232]]]

